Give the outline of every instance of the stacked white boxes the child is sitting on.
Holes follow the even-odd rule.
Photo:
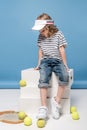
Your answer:
[[[27,85],[20,87],[20,110],[29,114],[38,112],[38,108],[41,106],[40,92],[38,88],[39,83],[39,71],[34,68],[29,68],[21,71],[21,80],[26,80]],[[64,114],[70,113],[70,90],[73,83],[73,69],[69,70],[69,84],[65,89],[64,95],[61,100],[62,112]],[[49,113],[51,112],[50,99],[56,96],[58,89],[58,79],[54,72],[52,72],[52,78],[50,80],[51,88],[48,89],[47,103]]]

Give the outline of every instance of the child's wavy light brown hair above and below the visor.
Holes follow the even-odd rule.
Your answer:
[[[52,20],[52,18],[48,14],[42,13],[37,17],[37,20]],[[48,37],[59,31],[59,29],[54,24],[47,24],[44,28],[49,31]]]

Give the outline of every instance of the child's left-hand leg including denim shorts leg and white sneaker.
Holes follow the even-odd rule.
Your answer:
[[[46,119],[48,118],[48,108],[47,108],[47,90],[49,87],[49,80],[51,78],[51,67],[48,66],[48,60],[43,59],[40,64],[40,79],[39,79],[39,89],[41,98],[41,107],[39,108],[37,118]]]

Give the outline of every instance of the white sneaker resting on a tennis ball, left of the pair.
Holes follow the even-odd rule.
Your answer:
[[[37,119],[47,119],[48,109],[45,106],[41,106],[38,111]]]

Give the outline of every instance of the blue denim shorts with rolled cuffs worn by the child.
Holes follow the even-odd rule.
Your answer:
[[[39,88],[48,88],[52,72],[58,77],[58,84],[60,86],[67,86],[69,82],[69,74],[62,60],[56,58],[44,58],[41,60],[39,66],[40,79]]]

